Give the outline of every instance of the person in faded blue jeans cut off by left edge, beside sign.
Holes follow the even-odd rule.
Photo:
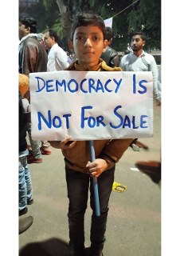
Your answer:
[[[24,74],[19,74],[19,83],[22,85],[21,80],[28,81],[23,78]],[[28,90],[29,84],[25,84]],[[25,88],[23,87],[23,89]],[[19,216],[27,213],[27,205],[33,203],[33,189],[29,168],[27,165],[27,150],[26,142],[26,129],[28,122],[30,122],[29,102],[23,98],[24,90],[22,86],[19,87]]]

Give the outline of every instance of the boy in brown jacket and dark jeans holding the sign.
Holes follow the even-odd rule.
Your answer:
[[[96,14],[77,14],[72,24],[70,50],[75,52],[77,61],[66,70],[121,71],[119,67],[109,67],[100,59],[106,48],[104,20]],[[88,202],[90,183],[90,205],[92,208],[91,247],[89,256],[102,256],[108,217],[108,201],[114,182],[115,162],[123,156],[132,139],[107,139],[94,141],[96,160],[90,162],[88,141],[50,142],[62,150],[65,156],[66,182],[68,189],[68,227],[73,256],[84,256],[84,214]],[[98,178],[100,217],[96,217],[93,179]]]

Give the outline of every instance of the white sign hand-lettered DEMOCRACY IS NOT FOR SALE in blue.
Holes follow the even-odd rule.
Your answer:
[[[146,138],[153,134],[152,72],[29,74],[32,137],[61,141]]]

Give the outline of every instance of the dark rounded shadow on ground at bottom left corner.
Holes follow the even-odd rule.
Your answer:
[[[70,256],[68,243],[59,238],[32,242],[19,251],[19,256]]]

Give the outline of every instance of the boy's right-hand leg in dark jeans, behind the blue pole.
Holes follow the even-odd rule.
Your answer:
[[[93,180],[91,180],[91,207],[92,207],[92,227],[91,227],[91,255],[100,255],[104,248],[105,231],[108,218],[108,202],[112,193],[115,167],[106,170],[97,178],[100,198],[100,217],[96,216],[95,199],[93,191]]]

